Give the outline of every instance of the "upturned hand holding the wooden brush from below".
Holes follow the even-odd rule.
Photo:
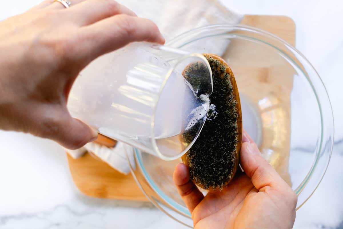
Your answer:
[[[237,172],[222,191],[210,191],[205,197],[189,179],[188,167],[176,166],[174,183],[192,214],[194,228],[292,228],[297,196],[245,131],[240,164],[245,173]]]

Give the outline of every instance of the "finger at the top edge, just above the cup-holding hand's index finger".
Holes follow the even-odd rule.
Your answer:
[[[117,14],[137,16],[133,11],[116,1],[88,0],[75,5],[68,12],[78,25],[84,26]]]

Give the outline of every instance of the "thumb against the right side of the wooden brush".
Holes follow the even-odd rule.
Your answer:
[[[245,173],[251,178],[253,185],[259,191],[264,191],[267,186],[287,185],[273,167],[264,160],[257,145],[245,130],[243,130],[240,163]]]

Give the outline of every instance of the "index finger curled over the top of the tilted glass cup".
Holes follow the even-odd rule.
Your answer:
[[[82,27],[79,56],[94,59],[130,42],[147,41],[164,44],[157,26],[150,20],[118,14]]]

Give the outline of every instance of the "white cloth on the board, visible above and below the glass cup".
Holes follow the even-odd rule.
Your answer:
[[[217,0],[117,0],[138,16],[155,22],[166,38],[169,39],[193,28],[211,24],[238,24],[243,15],[228,10]],[[213,44],[214,45],[214,44]],[[226,44],[216,44],[224,49]],[[225,49],[224,49],[225,50]],[[133,148],[121,142],[116,147],[108,148],[96,143],[88,143],[78,150],[67,150],[73,158],[81,157],[86,151],[93,152],[121,173],[130,172],[125,150],[131,165],[134,166]]]

